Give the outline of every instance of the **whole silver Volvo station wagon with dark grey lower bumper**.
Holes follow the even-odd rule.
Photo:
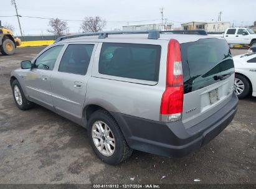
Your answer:
[[[133,149],[180,157],[227,127],[238,99],[223,38],[127,33],[59,40],[21,62],[11,73],[17,107],[37,103],[85,127],[107,164]]]

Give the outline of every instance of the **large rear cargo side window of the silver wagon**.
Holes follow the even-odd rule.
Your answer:
[[[160,45],[103,43],[99,73],[137,80],[158,81]]]

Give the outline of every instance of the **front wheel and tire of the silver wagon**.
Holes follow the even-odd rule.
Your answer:
[[[21,85],[19,84],[19,81],[17,81],[17,80],[14,80],[12,82],[12,95],[13,95],[14,101],[19,109],[27,110],[27,109],[32,108],[33,103],[26,99],[26,97],[22,91]]]

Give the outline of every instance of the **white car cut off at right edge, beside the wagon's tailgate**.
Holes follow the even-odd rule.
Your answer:
[[[234,91],[242,99],[252,93],[256,96],[256,53],[233,57],[235,64]]]

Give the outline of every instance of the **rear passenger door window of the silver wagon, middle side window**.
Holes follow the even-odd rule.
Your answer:
[[[69,45],[60,61],[59,71],[85,75],[94,45]]]

